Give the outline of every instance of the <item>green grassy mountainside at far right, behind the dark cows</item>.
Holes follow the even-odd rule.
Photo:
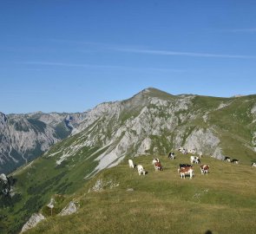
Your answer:
[[[208,126],[214,127],[224,154],[244,163],[253,162],[255,153],[252,139],[256,124],[250,110],[255,105],[256,96],[233,98],[230,101],[227,107],[209,114]]]

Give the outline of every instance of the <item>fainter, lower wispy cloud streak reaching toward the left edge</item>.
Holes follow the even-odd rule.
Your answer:
[[[97,65],[97,64],[82,64],[82,63],[66,63],[66,62],[20,62],[28,65],[41,65],[51,67],[66,67],[66,68],[114,68],[114,69],[129,69],[137,71],[159,71],[159,72],[185,72],[185,70],[175,68],[141,68],[115,65]],[[36,69],[35,69],[36,70]]]

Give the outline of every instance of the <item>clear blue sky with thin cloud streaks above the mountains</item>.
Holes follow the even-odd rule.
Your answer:
[[[0,1],[0,112],[83,112],[144,88],[256,94],[256,2]]]

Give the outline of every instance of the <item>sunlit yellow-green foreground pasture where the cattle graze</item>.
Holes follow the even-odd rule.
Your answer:
[[[28,233],[255,233],[255,168],[203,158],[211,172],[200,175],[194,166],[196,175],[190,180],[181,179],[176,170],[179,163],[189,162],[187,155],[159,158],[163,172],[154,172],[151,156],[134,159],[145,166],[145,177],[128,168],[127,159],[100,172],[66,198],[79,201],[79,211],[49,217]],[[97,179],[119,186],[88,192]]]

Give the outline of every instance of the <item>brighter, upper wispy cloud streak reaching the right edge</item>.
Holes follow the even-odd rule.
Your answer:
[[[178,55],[178,56],[192,56],[192,57],[215,57],[215,58],[236,58],[236,59],[255,59],[256,58],[256,56],[251,56],[251,55],[208,54],[208,53],[181,52],[181,51],[158,50],[158,49],[117,48],[117,50],[122,52],[146,54],[146,55]]]

